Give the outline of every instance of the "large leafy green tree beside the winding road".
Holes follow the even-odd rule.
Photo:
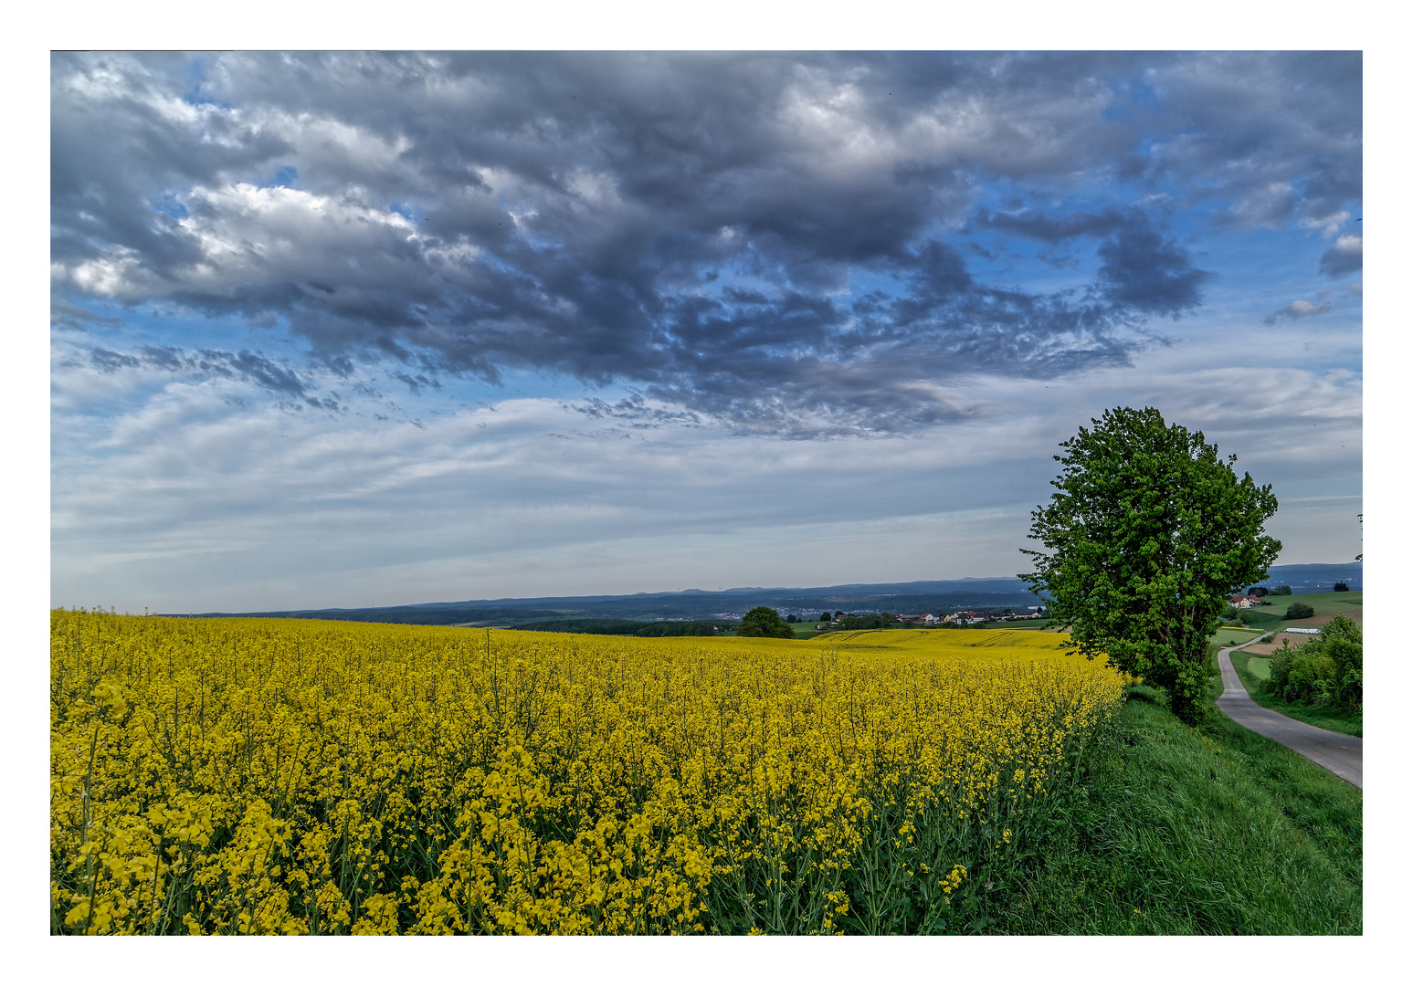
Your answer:
[[[1161,685],[1173,712],[1195,722],[1228,596],[1263,579],[1280,552],[1263,534],[1276,497],[1156,408],[1115,408],[1092,424],[1060,445],[1058,492],[1030,525],[1050,551],[1023,548],[1036,571],[1020,578],[1051,599],[1081,654]]]

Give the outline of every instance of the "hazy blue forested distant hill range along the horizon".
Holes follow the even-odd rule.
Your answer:
[[[1260,582],[1289,585],[1296,595],[1330,592],[1335,582],[1364,588],[1364,564],[1275,565]],[[732,619],[755,606],[770,606],[812,620],[824,610],[845,613],[951,613],[958,609],[1002,610],[1039,606],[1020,579],[941,579],[935,582],[851,583],[820,588],[738,588],[706,592],[639,592],[630,596],[537,596],[531,599],[472,599],[366,609],[298,609],[263,613],[199,613],[199,616],[281,616],[362,623],[420,623],[432,626],[517,627],[545,620],[709,620]],[[174,613],[174,616],[185,616]]]

